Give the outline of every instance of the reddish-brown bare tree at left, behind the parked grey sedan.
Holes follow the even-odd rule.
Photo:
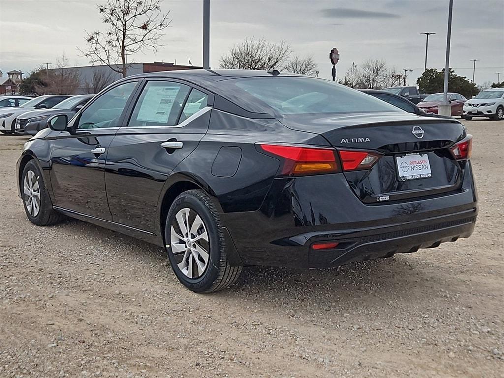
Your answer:
[[[54,69],[42,70],[42,83],[35,85],[37,93],[43,94],[75,94],[79,88],[79,73],[70,68],[67,56],[62,54],[56,59]]]

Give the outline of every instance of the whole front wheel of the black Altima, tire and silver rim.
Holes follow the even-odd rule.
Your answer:
[[[64,218],[52,209],[44,179],[33,160],[29,161],[23,169],[21,185],[23,206],[30,222],[37,226],[48,226]]]

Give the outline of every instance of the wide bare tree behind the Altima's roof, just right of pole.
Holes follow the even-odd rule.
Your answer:
[[[219,65],[223,69],[237,70],[283,70],[291,52],[290,44],[267,42],[265,39],[245,39],[231,47],[229,54],[222,55]]]

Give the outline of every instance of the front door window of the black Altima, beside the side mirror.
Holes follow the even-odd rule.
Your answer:
[[[118,85],[94,101],[79,117],[78,129],[119,127],[119,118],[137,82]]]

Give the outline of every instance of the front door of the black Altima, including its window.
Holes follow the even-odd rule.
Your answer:
[[[111,220],[105,192],[105,159],[138,83],[122,83],[100,95],[73,120],[70,132],[61,133],[51,142],[55,206]]]

